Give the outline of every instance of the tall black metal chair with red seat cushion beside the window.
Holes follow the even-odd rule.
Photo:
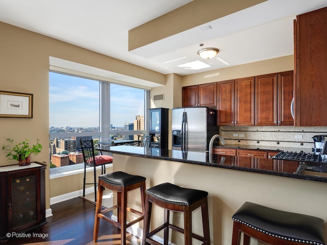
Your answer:
[[[85,197],[85,185],[94,184],[95,202],[97,202],[97,171],[96,167],[101,166],[101,175],[106,173],[105,165],[112,163],[112,157],[107,155],[95,156],[93,140],[80,139],[82,153],[84,158],[84,183],[83,183],[83,197]],[[94,182],[86,183],[86,166],[93,167]]]

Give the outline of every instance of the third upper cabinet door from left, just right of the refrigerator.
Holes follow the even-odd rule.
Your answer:
[[[234,80],[217,83],[217,126],[234,125]]]

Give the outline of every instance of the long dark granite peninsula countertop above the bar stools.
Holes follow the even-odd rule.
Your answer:
[[[177,161],[327,183],[326,163],[301,163],[288,160],[279,161],[252,157],[224,156],[219,154],[213,154],[212,160],[209,160],[208,153],[162,150],[128,145],[105,146],[97,148],[97,150],[127,156]]]

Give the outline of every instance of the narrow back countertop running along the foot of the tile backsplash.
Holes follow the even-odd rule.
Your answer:
[[[281,147],[281,146],[267,146],[267,145],[246,145],[246,144],[224,144],[224,145],[214,145],[214,148],[233,148],[233,149],[244,149],[244,150],[262,150],[262,151],[289,151],[289,152],[312,152],[310,148],[291,148],[291,147]]]

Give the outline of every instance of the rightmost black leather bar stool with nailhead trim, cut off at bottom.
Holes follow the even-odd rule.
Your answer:
[[[268,208],[245,202],[232,216],[232,245],[244,245],[250,237],[271,245],[325,245],[323,220],[314,216]]]

